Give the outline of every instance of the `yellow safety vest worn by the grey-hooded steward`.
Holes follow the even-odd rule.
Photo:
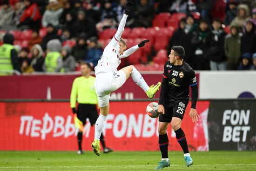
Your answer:
[[[58,66],[58,58],[61,56],[59,52],[49,52],[45,57],[45,67],[47,72],[55,72]],[[64,72],[64,68],[61,68],[60,72]]]

